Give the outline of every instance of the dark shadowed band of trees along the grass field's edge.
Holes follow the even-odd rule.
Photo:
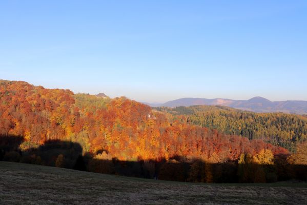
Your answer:
[[[135,161],[119,160],[106,151],[84,153],[78,143],[50,140],[37,148],[21,151],[18,145],[22,137],[2,138],[11,146],[0,152],[0,160],[55,166],[104,174],[189,182],[276,182],[290,179],[307,180],[307,144],[300,145],[298,153],[273,155],[262,149],[255,155],[241,154],[238,160],[213,163],[187,156],[173,156],[171,159]],[[4,147],[2,147],[4,148]],[[13,149],[15,148],[15,149]],[[3,151],[3,150],[2,150]],[[297,160],[302,163],[296,163]]]

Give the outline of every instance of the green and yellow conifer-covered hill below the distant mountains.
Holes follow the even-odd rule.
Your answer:
[[[225,106],[158,107],[155,110],[172,114],[173,120],[184,115],[190,124],[249,139],[263,139],[291,151],[295,150],[297,142],[307,138],[306,115],[255,113]]]

